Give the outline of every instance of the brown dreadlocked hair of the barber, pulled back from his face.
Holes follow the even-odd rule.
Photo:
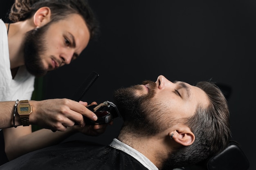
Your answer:
[[[27,20],[41,7],[51,9],[51,22],[63,20],[68,15],[76,13],[85,20],[91,38],[97,32],[98,23],[87,0],[15,0],[9,13],[9,20]]]

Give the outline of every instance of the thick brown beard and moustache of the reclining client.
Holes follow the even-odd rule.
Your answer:
[[[163,124],[163,116],[167,110],[162,107],[162,102],[154,99],[157,88],[155,82],[145,81],[149,84],[146,95],[136,96],[136,91],[142,91],[141,85],[121,88],[115,91],[114,99],[120,114],[124,118],[124,126],[139,135],[155,135],[169,124]]]

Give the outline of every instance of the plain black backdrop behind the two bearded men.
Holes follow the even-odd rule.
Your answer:
[[[1,1],[3,20],[12,4]],[[255,163],[256,0],[90,0],[101,26],[98,41],[90,42],[81,57],[41,78],[42,99],[72,98],[92,71],[99,78],[84,101],[112,101],[122,86],[155,81],[195,84],[210,80],[231,88],[228,98],[233,140]],[[121,128],[115,119],[100,137],[76,134],[108,144]]]

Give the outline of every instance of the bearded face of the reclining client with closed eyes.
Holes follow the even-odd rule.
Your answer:
[[[198,104],[207,106],[207,95],[184,82],[171,82],[164,76],[156,82],[119,89],[115,99],[124,121],[141,132],[155,134],[173,126],[175,120],[194,115]]]

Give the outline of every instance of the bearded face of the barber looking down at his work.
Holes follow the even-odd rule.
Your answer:
[[[25,38],[24,57],[27,70],[41,76],[70,64],[85,49],[89,39],[88,27],[78,14],[31,30]]]

